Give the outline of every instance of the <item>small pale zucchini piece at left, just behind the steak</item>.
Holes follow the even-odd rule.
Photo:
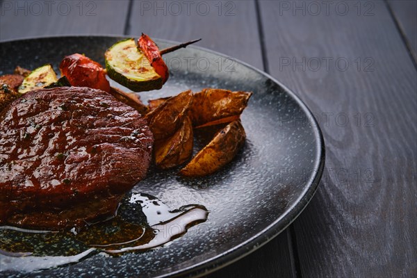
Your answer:
[[[22,85],[19,86],[19,93],[24,94],[25,92],[36,90],[40,88],[47,87],[51,83],[58,81],[54,68],[51,64],[42,65],[33,70],[28,76],[23,80]]]

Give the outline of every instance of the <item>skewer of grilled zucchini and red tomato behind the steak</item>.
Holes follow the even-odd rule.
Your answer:
[[[201,40],[201,39],[199,39]],[[198,42],[192,40],[159,51],[156,43],[142,33],[136,45],[133,38],[122,40],[106,51],[106,70],[94,60],[83,54],[65,56],[60,63],[60,72],[66,85],[89,87],[111,92],[106,74],[117,83],[135,91],[157,90],[169,77],[163,54],[187,47]],[[35,88],[43,88],[58,80],[51,65],[44,65],[26,76],[19,93]],[[54,84],[62,85],[60,83]],[[126,99],[124,97],[124,99]]]

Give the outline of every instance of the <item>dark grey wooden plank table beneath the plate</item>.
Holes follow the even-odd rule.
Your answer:
[[[0,40],[203,38],[268,72],[320,122],[325,172],[286,231],[208,277],[416,277],[416,14],[391,0],[3,0]]]

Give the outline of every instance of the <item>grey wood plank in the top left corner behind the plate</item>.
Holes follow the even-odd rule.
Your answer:
[[[44,35],[117,34],[129,1],[8,1],[1,3],[0,40]]]

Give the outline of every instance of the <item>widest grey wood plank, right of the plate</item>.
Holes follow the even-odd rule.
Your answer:
[[[383,1],[314,2],[259,1],[270,72],[325,136],[325,174],[295,220],[298,267],[302,277],[415,277],[416,68]]]

